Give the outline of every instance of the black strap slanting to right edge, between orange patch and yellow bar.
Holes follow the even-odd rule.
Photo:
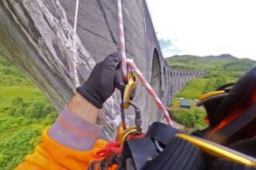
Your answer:
[[[256,117],[256,104],[253,104],[249,109],[247,109],[243,114],[237,117],[234,121],[231,121],[230,124],[227,124],[220,130],[216,131],[209,137],[209,141],[214,141],[218,144],[227,145],[227,139],[232,137],[242,128],[250,124],[255,120]],[[248,131],[256,131],[255,128]]]

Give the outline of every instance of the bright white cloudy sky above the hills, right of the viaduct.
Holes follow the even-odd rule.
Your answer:
[[[255,0],[147,0],[164,57],[229,53],[256,60]]]

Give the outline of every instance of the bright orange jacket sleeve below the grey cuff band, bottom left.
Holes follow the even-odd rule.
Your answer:
[[[37,145],[31,155],[26,155],[25,162],[20,164],[17,169],[88,169],[93,161],[99,161],[102,158],[95,158],[93,155],[106,147],[107,141],[99,139],[95,142],[90,151],[77,151],[67,148],[57,143],[47,134],[49,128],[46,128],[42,134],[42,144]]]

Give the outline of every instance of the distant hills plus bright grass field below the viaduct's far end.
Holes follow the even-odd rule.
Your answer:
[[[238,59],[230,54],[220,56],[171,56],[167,63],[178,70],[206,71],[206,76],[192,80],[176,96],[196,99],[201,93],[216,90],[223,83],[235,82],[256,61]]]

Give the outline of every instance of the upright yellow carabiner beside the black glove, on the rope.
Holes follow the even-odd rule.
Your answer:
[[[125,109],[128,109],[130,106],[129,100],[136,86],[137,86],[137,76],[134,75],[132,72],[128,72],[128,83],[126,84],[126,87],[123,93],[123,107]]]

